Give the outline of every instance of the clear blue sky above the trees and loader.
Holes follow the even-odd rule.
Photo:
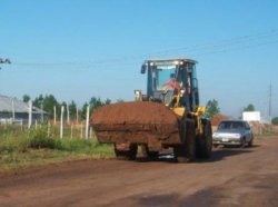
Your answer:
[[[276,0],[1,0],[0,93],[91,97],[146,92],[146,59],[198,61],[201,105],[239,117],[249,103],[278,116]],[[271,86],[271,90],[270,90]],[[271,96],[270,96],[271,91]]]

